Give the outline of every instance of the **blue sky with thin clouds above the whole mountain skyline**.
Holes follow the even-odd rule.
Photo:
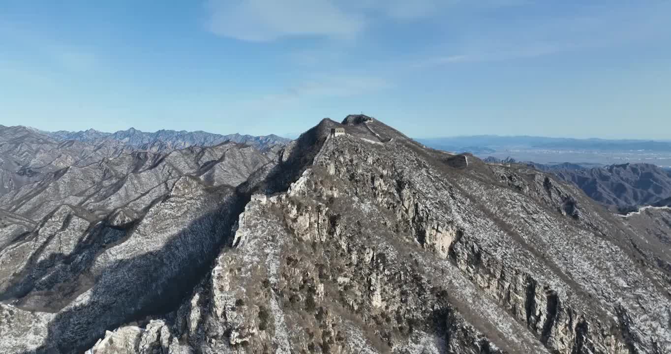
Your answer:
[[[671,1],[0,0],[0,124],[670,139]]]

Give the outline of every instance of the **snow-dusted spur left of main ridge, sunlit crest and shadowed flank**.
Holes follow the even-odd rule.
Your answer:
[[[31,291],[31,283],[42,282],[41,290],[14,302],[25,310],[58,312],[38,353],[81,353],[106,329],[166,314],[189,294],[230,242],[231,226],[246,198],[230,187],[187,183],[183,180],[175,188],[203,188],[204,194],[168,196],[141,221],[118,229],[115,239],[91,233],[91,244],[83,239],[76,249],[81,253],[71,253],[76,258],[52,254],[37,262],[22,284],[8,290],[15,294],[3,294],[21,296],[16,292]],[[164,219],[166,212],[174,219]]]

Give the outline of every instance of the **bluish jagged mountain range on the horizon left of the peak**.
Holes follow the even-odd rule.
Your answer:
[[[152,152],[166,152],[168,150],[183,149],[189,146],[211,146],[225,141],[233,141],[251,145],[256,148],[266,149],[274,145],[285,145],[291,141],[277,135],[252,136],[252,135],[219,135],[205,131],[174,131],[159,130],[154,133],[139,131],[135,128],[117,131],[115,133],[104,133],[95,129],[87,131],[55,131],[49,133],[51,137],[59,141],[76,140],[91,143],[111,140],[119,141],[134,148]]]

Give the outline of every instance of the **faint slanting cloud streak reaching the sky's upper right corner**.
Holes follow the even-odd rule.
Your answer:
[[[411,66],[431,68],[448,64],[528,60],[554,54],[577,53],[638,40],[669,38],[663,29],[668,1],[629,5],[584,5],[567,15],[535,18],[499,26],[464,29],[458,44],[425,52]]]

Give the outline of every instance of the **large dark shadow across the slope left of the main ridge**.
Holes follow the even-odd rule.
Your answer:
[[[224,196],[221,207],[191,221],[160,249],[110,265],[85,293],[86,302],[68,306],[50,322],[48,344],[37,353],[82,353],[107,329],[172,311],[230,242],[242,208],[240,196]]]

